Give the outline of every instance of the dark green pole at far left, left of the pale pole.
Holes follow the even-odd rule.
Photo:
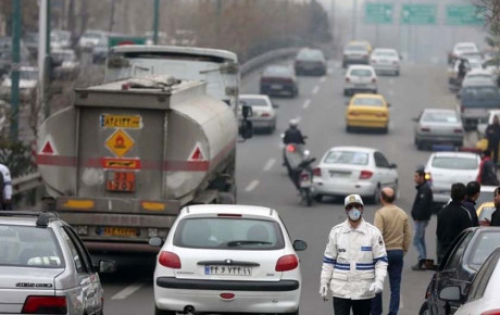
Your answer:
[[[20,61],[21,61],[21,1],[12,0],[12,76],[11,76],[11,109],[12,122],[11,141],[18,138],[20,122]]]

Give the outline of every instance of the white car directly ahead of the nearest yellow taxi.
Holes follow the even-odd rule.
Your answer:
[[[346,73],[343,94],[351,96],[357,92],[377,93],[377,75],[371,65],[351,65]]]

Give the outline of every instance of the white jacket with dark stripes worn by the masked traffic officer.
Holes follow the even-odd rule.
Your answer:
[[[375,297],[371,285],[384,284],[387,253],[380,231],[363,218],[358,228],[349,220],[335,226],[328,237],[321,284],[328,285],[336,298],[365,300]]]

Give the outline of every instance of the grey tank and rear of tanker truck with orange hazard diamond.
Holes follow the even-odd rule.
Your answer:
[[[39,129],[45,209],[92,252],[145,252],[184,205],[234,203],[238,122],[205,90],[167,76],[76,89]]]

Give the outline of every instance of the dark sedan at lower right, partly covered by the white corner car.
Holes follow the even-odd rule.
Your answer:
[[[461,304],[440,300],[439,292],[459,286],[466,293],[475,274],[497,247],[500,247],[500,228],[474,227],[460,234],[427,287],[420,315],[453,314]]]

